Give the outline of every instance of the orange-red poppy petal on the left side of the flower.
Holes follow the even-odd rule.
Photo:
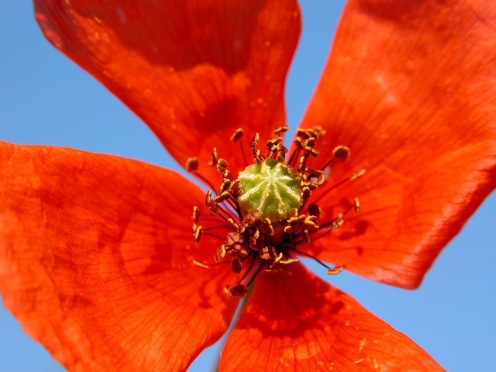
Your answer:
[[[69,370],[184,370],[225,332],[237,303],[222,288],[235,279],[191,264],[215,251],[191,244],[196,186],[128,159],[5,142],[0,169],[1,295]]]

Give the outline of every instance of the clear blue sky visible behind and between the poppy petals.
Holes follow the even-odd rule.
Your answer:
[[[45,41],[30,1],[0,4],[2,140],[120,154],[179,169],[133,113]],[[286,91],[292,128],[320,76],[342,4],[301,1],[303,38]],[[417,291],[349,273],[332,277],[332,283],[405,332],[449,371],[496,371],[495,220],[493,194],[444,249]],[[209,371],[221,345],[205,350],[190,371]],[[1,305],[0,371],[63,371]]]

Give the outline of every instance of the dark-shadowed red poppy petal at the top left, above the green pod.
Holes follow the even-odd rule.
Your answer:
[[[244,168],[230,136],[285,120],[286,72],[300,33],[295,0],[35,0],[50,43],[150,125],[179,163],[213,147]],[[233,155],[235,154],[235,155]],[[215,177],[215,178],[214,178]]]

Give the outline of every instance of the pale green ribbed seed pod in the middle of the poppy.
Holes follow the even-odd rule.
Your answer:
[[[253,164],[239,172],[243,194],[237,202],[246,212],[260,213],[271,222],[284,220],[302,204],[300,178],[295,171],[273,159]]]

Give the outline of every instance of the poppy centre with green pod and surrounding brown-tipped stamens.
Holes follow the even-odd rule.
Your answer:
[[[193,208],[193,239],[201,242],[203,235],[218,239],[220,244],[213,252],[213,262],[193,260],[193,264],[208,269],[210,266],[229,264],[230,270],[239,275],[237,283],[227,286],[228,295],[244,297],[256,276],[264,271],[287,271],[291,264],[298,262],[296,256],[315,259],[325,266],[327,274],[338,274],[342,266],[329,267],[308,252],[298,249],[298,245],[319,239],[339,228],[344,216],[351,210],[359,211],[357,198],[353,198],[341,213],[323,222],[322,210],[317,201],[346,182],[354,181],[364,174],[364,170],[329,184],[326,171],[349,157],[349,149],[338,146],[332,158],[320,169],[308,167],[312,157],[319,152],[315,149],[317,140],[324,134],[320,128],[298,130],[295,137],[295,150],[286,159],[288,150],[283,145],[281,133],[288,127],[274,130],[274,137],[265,143],[266,154],[257,149],[259,135],[255,133],[249,141],[254,164],[239,172],[237,179],[229,171],[229,164],[218,157],[213,149],[212,160],[208,163],[216,167],[222,182],[215,188],[198,172],[198,160],[189,158],[186,169],[196,174],[210,185],[205,205],[213,217],[203,218],[208,225],[200,225],[200,209]],[[242,129],[236,130],[230,140],[239,142],[242,158],[247,163],[241,138]],[[328,173],[328,172],[327,172]],[[324,191],[308,203],[312,191],[325,187]],[[218,223],[213,225],[212,221]]]

